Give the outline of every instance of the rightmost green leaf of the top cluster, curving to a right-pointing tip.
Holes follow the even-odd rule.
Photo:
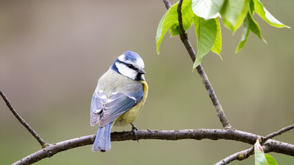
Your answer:
[[[276,28],[290,28],[275,19],[275,17],[273,17],[273,15],[268,10],[266,10],[266,8],[264,8],[264,5],[259,0],[253,0],[253,2],[255,12],[258,13],[258,15],[264,19],[266,23],[269,23],[269,25],[272,25]]]

